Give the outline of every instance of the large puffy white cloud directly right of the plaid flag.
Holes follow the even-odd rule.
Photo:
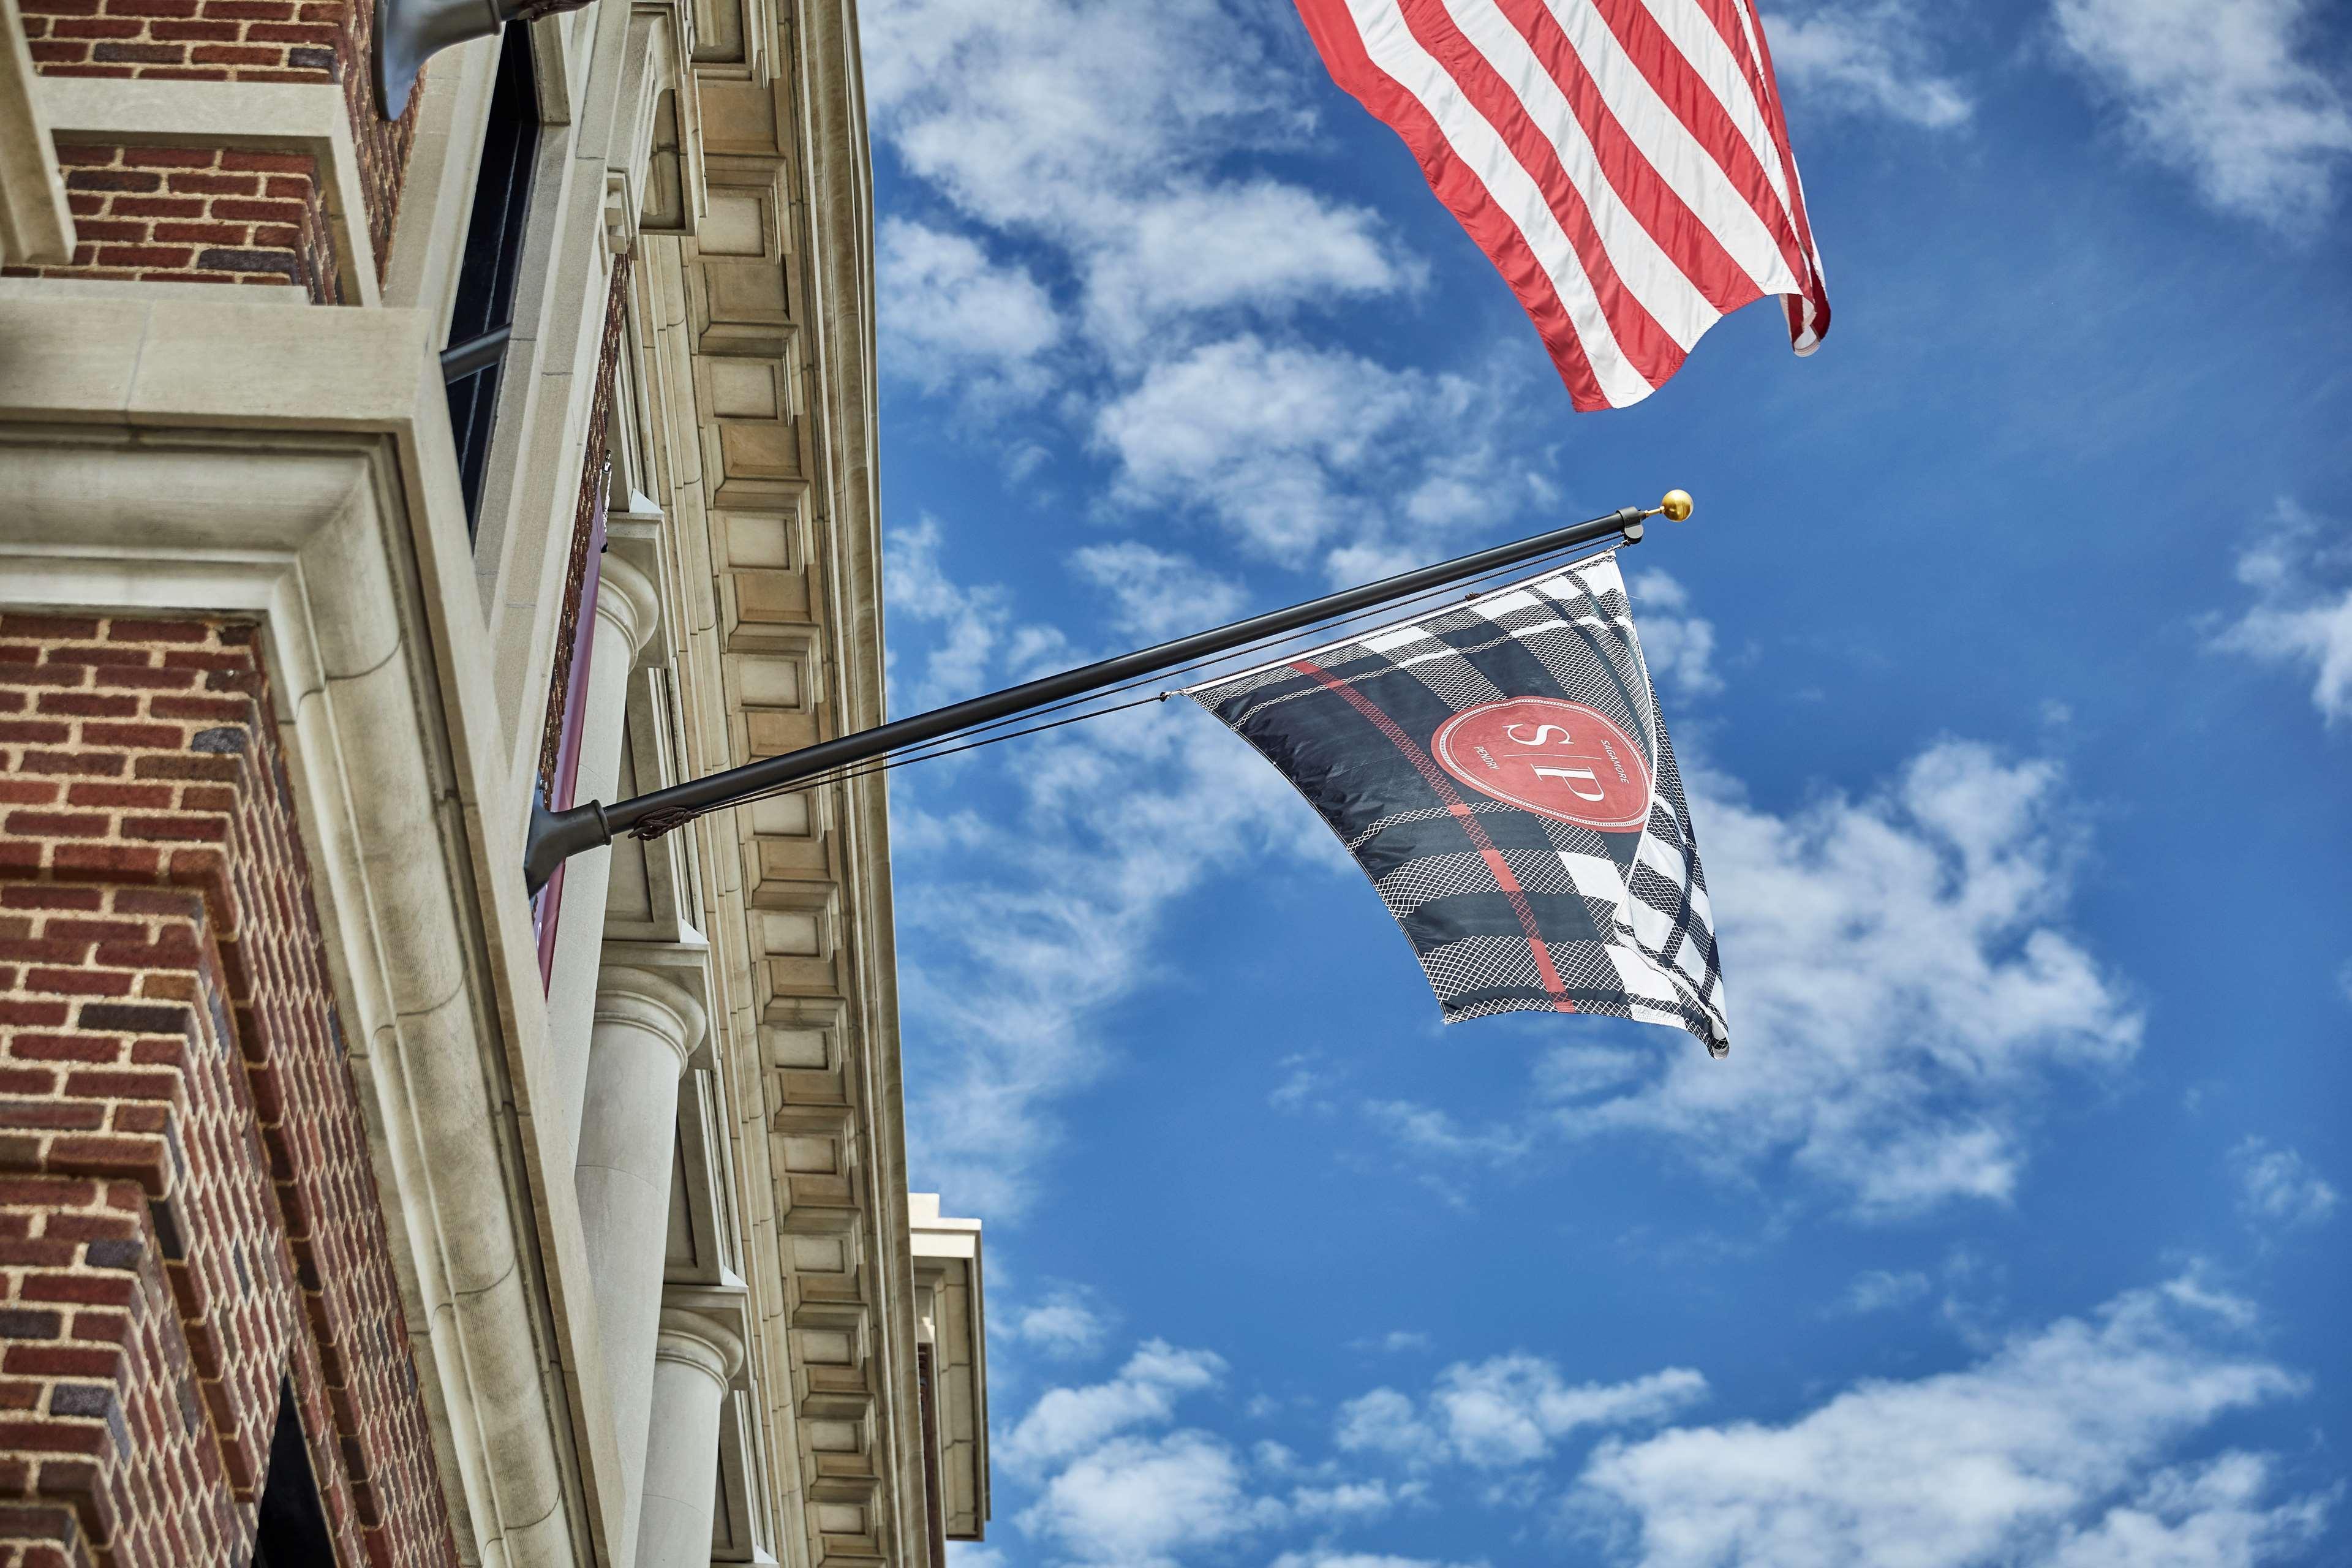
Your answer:
[[[1576,1048],[1538,1084],[1597,1098],[1562,1103],[1557,1126],[1663,1133],[1736,1171],[1790,1159],[1865,1213],[2006,1199],[2039,1091],[2140,1041],[2129,999],[2060,926],[2058,769],[1940,743],[1884,795],[1792,816],[1703,771],[1691,785],[1731,1058]]]

